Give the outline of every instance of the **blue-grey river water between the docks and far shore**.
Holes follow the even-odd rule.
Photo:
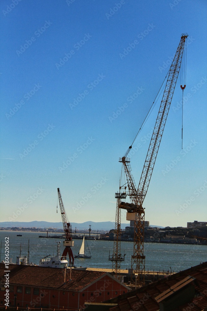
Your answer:
[[[16,236],[22,234],[22,237]],[[20,255],[20,244],[22,245],[22,255],[27,256],[28,239],[29,239],[29,262],[39,264],[39,259],[46,255],[53,255],[57,252],[56,242],[59,239],[44,239],[39,238],[39,235],[46,235],[39,232],[17,232],[17,231],[0,231],[0,242],[2,240],[1,261],[4,260],[4,241],[5,237],[10,239],[10,258],[12,262],[16,262],[16,256]],[[50,234],[51,235],[51,234]],[[61,253],[63,252],[63,239],[61,241]],[[78,254],[82,240],[74,240],[73,254]],[[109,250],[113,253],[113,241],[98,241],[87,240],[91,259],[75,258],[75,266],[82,267],[100,267],[111,268],[112,262],[108,260]],[[86,244],[87,247],[87,244]],[[86,249],[86,253],[87,253]],[[121,242],[121,253],[125,251],[125,261],[121,263],[121,269],[130,268],[131,255],[133,253],[133,242]],[[181,271],[192,266],[207,261],[207,246],[206,245],[183,245],[183,244],[159,244],[145,243],[144,253],[146,256],[147,269],[164,269],[169,267],[172,271]],[[88,252],[89,254],[89,252]]]

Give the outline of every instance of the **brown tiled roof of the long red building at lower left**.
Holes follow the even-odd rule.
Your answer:
[[[4,270],[6,270],[5,265],[0,263],[0,279],[7,273],[4,272]],[[10,270],[8,273],[9,283],[11,285],[28,285],[69,291],[82,290],[84,287],[106,274],[105,272],[72,269],[70,281],[70,269],[66,269],[64,284],[65,269],[10,264],[8,270]]]

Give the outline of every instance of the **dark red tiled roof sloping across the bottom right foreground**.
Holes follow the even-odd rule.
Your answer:
[[[118,305],[110,308],[110,311],[157,311],[160,308],[155,297],[169,290],[187,276],[195,278],[192,281],[196,292],[195,298],[173,311],[188,311],[189,308],[190,311],[201,311],[207,306],[207,262],[111,299],[111,303],[118,303]]]

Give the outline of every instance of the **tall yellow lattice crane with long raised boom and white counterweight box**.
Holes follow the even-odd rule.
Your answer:
[[[147,152],[145,164],[142,170],[140,182],[136,190],[133,176],[131,174],[130,159],[127,155],[132,148],[130,146],[124,157],[119,159],[124,166],[124,172],[128,184],[128,195],[133,203],[121,202],[118,209],[123,208],[127,210],[127,220],[134,221],[134,247],[131,262],[132,276],[136,276],[135,288],[144,285],[145,282],[145,256],[144,256],[144,216],[145,211],[142,207],[144,198],[147,193],[147,189],[150,183],[151,174],[154,168],[155,160],[157,157],[160,141],[162,138],[165,122],[168,116],[169,107],[173,97],[173,92],[177,82],[182,54],[184,49],[185,40],[188,37],[187,34],[181,35],[181,40],[175,53],[173,62],[169,69],[168,79],[165,86],[163,98],[160,104],[160,109],[155,123],[155,128],[151,137],[150,146]],[[118,226],[119,227],[119,226]],[[131,277],[131,284],[133,279]]]

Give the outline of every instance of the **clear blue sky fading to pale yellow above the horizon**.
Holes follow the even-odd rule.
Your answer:
[[[154,225],[207,220],[206,7],[204,0],[1,1],[1,221],[61,221],[58,187],[70,222],[115,220],[119,157],[182,33],[189,35],[183,150],[178,77],[143,207]],[[159,105],[134,143],[137,185]]]

